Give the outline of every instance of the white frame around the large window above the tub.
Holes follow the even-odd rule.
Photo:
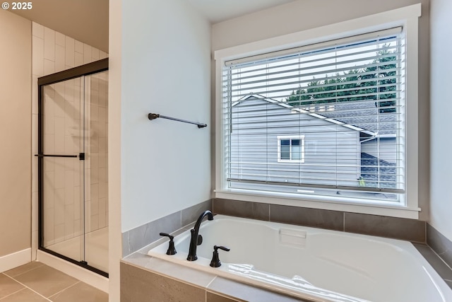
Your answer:
[[[303,30],[301,32],[282,35],[266,40],[238,45],[224,50],[215,51],[215,197],[237,199],[248,202],[263,202],[270,204],[285,204],[296,207],[311,207],[316,209],[331,209],[350,211],[363,214],[377,214],[418,219],[418,18],[421,16],[421,4],[405,6],[383,13],[343,21],[331,25]],[[362,35],[377,30],[385,30],[402,26],[406,39],[406,85],[405,98],[405,198],[399,204],[384,202],[357,202],[340,197],[316,197],[303,194],[280,192],[256,192],[230,189],[225,179],[222,160],[223,139],[222,129],[222,66],[232,59],[246,58],[256,55],[265,57],[266,53],[302,47],[320,42]]]

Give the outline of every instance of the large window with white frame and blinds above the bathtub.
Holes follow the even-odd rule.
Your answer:
[[[397,16],[405,13],[409,22]],[[216,197],[326,201],[379,213],[362,210],[367,205],[417,217],[417,53],[406,50],[417,48],[420,6],[377,15],[360,20],[371,30],[346,21],[328,27],[335,34],[325,40],[315,29],[300,32],[315,42],[299,47],[293,35],[291,48],[269,39],[215,52]],[[396,21],[378,25],[382,16]],[[259,52],[262,45],[271,51]]]

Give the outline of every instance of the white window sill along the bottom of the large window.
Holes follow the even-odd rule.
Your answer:
[[[307,207],[331,211],[346,211],[359,214],[391,216],[405,219],[419,219],[420,208],[409,208],[386,203],[357,203],[353,201],[328,200],[326,197],[300,198],[296,194],[275,192],[252,192],[251,190],[215,190],[215,198],[234,199],[243,202],[261,202],[263,204],[280,204],[292,207]]]

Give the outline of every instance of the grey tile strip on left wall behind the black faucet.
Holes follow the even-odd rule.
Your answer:
[[[199,214],[206,210],[212,210],[211,199],[122,233],[122,257],[162,238],[160,232],[172,233],[196,221]]]

